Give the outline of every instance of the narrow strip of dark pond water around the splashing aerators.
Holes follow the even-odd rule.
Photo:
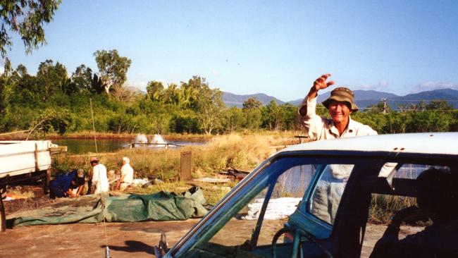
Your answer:
[[[116,152],[118,149],[127,148],[132,141],[133,140],[128,139],[97,139],[97,152]],[[89,152],[96,152],[94,139],[58,139],[52,140],[52,142],[59,146],[67,146],[68,154],[85,154]],[[183,141],[170,141],[167,143],[180,146],[204,144],[204,142]]]

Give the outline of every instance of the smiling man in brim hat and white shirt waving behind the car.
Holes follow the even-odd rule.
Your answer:
[[[314,81],[309,94],[299,106],[299,118],[311,140],[327,140],[342,137],[376,135],[369,125],[358,123],[350,114],[358,111],[354,103],[354,94],[347,87],[337,87],[330,92],[330,97],[323,102],[331,118],[316,114],[316,97],[318,91],[334,85],[327,81],[330,74],[321,75]],[[330,224],[334,222],[340,198],[347,179],[352,172],[352,164],[329,164],[318,181],[311,205],[311,213]]]

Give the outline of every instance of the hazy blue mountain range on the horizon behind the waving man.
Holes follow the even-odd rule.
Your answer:
[[[318,103],[323,102],[330,95],[330,92],[318,95]],[[431,100],[444,99],[449,104],[454,106],[455,109],[458,109],[458,90],[452,89],[440,89],[440,90],[431,90],[426,92],[419,92],[415,94],[407,94],[405,96],[398,96],[396,94],[388,92],[378,92],[375,90],[354,90],[354,102],[359,106],[359,108],[366,108],[373,104],[378,104],[381,99],[387,99],[387,104],[392,109],[397,109],[397,106],[400,104],[418,104],[422,100],[430,102]],[[255,97],[257,100],[262,102],[263,105],[268,104],[274,99],[278,104],[290,103],[292,105],[299,105],[302,102],[302,99],[292,100],[290,102],[282,102],[276,97],[268,96],[264,93],[258,94],[249,94],[249,95],[237,95],[229,92],[223,92],[223,102],[227,106],[238,106],[242,107],[243,102],[249,97]],[[305,97],[305,95],[304,95]]]

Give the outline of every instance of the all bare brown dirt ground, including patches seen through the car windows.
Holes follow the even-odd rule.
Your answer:
[[[35,193],[35,198],[6,201],[6,215],[18,211],[27,211],[39,207],[57,207],[71,202],[70,199],[49,199],[40,194],[40,189],[27,189]],[[105,245],[111,249],[111,257],[152,257],[153,246],[157,245],[161,233],[165,232],[169,246],[173,246],[199,219],[187,221],[147,221],[136,223],[72,223],[61,225],[21,226],[8,228],[0,233],[0,257],[104,257]],[[266,231],[266,239],[259,241],[268,244],[273,235],[283,226],[285,221],[269,221],[261,231]],[[228,234],[231,240],[242,243],[250,235],[255,221],[231,220],[213,241],[228,244]],[[364,237],[361,257],[369,257],[376,241],[381,238],[386,226],[368,224]],[[421,231],[422,227],[403,226],[400,238],[406,234]],[[245,232],[249,231],[249,232]],[[267,232],[268,231],[268,232]],[[232,232],[232,233],[230,233]],[[235,233],[237,232],[237,233]],[[245,232],[245,233],[244,233]],[[237,235],[242,235],[238,239]],[[81,254],[84,254],[81,256]]]

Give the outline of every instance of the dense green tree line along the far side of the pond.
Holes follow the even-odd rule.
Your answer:
[[[125,86],[130,59],[116,49],[94,52],[98,70],[84,64],[70,75],[62,63],[46,60],[36,75],[5,59],[0,75],[0,131],[40,133],[206,133],[242,130],[301,130],[297,106],[263,105],[249,98],[242,108],[223,104],[222,92],[195,75],[178,84],[150,81],[146,94]],[[91,111],[92,106],[92,111]],[[378,133],[456,131],[458,112],[438,100],[386,109],[382,102],[352,114]],[[327,116],[318,105],[317,111]],[[92,115],[93,114],[93,115]]]

